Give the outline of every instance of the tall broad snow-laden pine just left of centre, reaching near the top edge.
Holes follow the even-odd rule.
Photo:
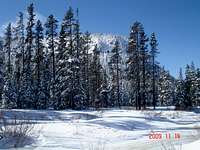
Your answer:
[[[57,100],[57,105],[59,109],[70,107],[75,108],[74,98],[75,98],[75,87],[77,83],[77,71],[79,70],[77,58],[77,49],[75,49],[75,34],[74,27],[76,22],[74,19],[74,13],[70,7],[67,11],[62,25],[59,37],[58,46],[58,90],[60,96]],[[78,69],[78,70],[77,70]],[[58,95],[58,94],[57,94]]]

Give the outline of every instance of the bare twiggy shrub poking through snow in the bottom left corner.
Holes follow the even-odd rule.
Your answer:
[[[0,113],[0,143],[5,147],[21,147],[27,140],[30,142],[33,128],[33,123],[24,116],[13,114],[8,119],[3,112]]]

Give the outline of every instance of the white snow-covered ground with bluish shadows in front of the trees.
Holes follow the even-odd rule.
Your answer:
[[[34,142],[20,150],[198,150],[200,113],[157,110],[6,111],[36,125]],[[18,117],[19,118],[19,117]],[[152,133],[162,139],[152,139]],[[166,138],[170,134],[170,139]],[[174,137],[174,135],[179,135]],[[4,144],[4,145],[3,145]],[[5,143],[0,147],[4,148]]]

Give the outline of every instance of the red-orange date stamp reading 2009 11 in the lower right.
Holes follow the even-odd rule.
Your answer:
[[[166,132],[166,133],[162,133],[162,132],[151,132],[149,134],[149,139],[150,140],[170,140],[170,139],[175,139],[175,140],[179,140],[181,138],[181,134],[178,132],[174,132],[174,133],[170,133],[170,132]]]

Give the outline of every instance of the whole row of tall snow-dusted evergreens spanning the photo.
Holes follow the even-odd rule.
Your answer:
[[[157,61],[156,34],[148,37],[140,22],[130,31],[126,54],[116,40],[102,65],[102,48],[91,46],[80,31],[79,12],[69,7],[59,24],[50,15],[36,20],[34,5],[27,21],[19,13],[0,41],[0,106],[19,109],[88,109],[101,107],[200,105],[200,69],[187,65],[178,79]],[[59,32],[58,32],[59,30]]]

